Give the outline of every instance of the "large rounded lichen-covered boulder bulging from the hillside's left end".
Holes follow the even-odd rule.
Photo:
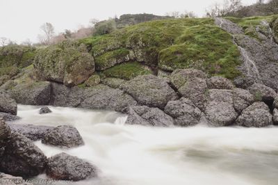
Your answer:
[[[95,72],[94,58],[83,45],[69,40],[40,49],[33,64],[44,79],[66,86],[79,85]]]

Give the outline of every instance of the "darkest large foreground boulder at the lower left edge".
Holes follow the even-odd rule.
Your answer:
[[[34,177],[44,170],[47,157],[31,140],[14,132],[5,143],[0,171],[20,177]]]

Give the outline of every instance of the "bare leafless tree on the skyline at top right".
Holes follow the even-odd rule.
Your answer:
[[[223,3],[215,3],[206,9],[206,15],[208,17],[225,17],[240,10],[240,8],[242,8],[241,0],[224,0]]]

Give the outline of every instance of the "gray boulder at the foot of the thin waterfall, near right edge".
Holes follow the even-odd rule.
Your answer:
[[[248,90],[257,101],[273,102],[277,96],[275,90],[261,83],[254,83]]]

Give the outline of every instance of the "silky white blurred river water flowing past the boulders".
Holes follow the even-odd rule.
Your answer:
[[[85,145],[70,150],[35,142],[47,156],[66,152],[99,168],[95,185],[277,185],[278,128],[154,128],[124,125],[107,111],[18,107],[20,124],[72,124]],[[40,175],[38,178],[46,178]]]

